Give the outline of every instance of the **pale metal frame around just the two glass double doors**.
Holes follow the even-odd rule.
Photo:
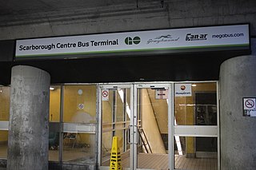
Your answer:
[[[168,97],[168,162],[169,168],[174,169],[174,158],[173,158],[173,119],[171,112],[173,111],[173,102],[171,99],[173,98],[173,83],[170,82],[147,82],[147,83],[116,83],[116,84],[99,84],[98,85],[98,164],[101,164],[102,160],[102,152],[101,152],[101,144],[102,144],[102,89],[130,89],[130,169],[138,169],[137,168],[137,141],[138,141],[138,129],[137,129],[137,108],[134,106],[137,105],[137,89],[143,88],[168,88],[169,89],[169,97]],[[109,169],[109,167],[103,167],[100,165],[100,169]]]

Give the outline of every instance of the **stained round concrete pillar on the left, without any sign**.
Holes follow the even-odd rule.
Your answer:
[[[50,74],[12,68],[7,170],[47,170]]]

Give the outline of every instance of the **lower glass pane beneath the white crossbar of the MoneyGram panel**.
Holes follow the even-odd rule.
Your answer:
[[[203,143],[198,138],[204,138]],[[179,136],[182,154],[179,154],[174,137],[174,168],[184,170],[218,169],[217,137]],[[202,140],[201,140],[202,141]]]

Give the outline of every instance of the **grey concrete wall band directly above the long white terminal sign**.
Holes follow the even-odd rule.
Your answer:
[[[251,34],[256,35],[254,0],[97,0],[62,5],[58,10],[42,8],[46,11],[38,6],[38,10],[23,10],[25,14],[2,15],[0,40],[245,22],[250,22]]]

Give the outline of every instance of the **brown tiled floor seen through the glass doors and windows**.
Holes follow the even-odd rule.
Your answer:
[[[0,157],[6,158],[7,144],[0,144]],[[129,154],[128,154],[129,155]],[[50,160],[58,161],[58,150],[50,150]],[[63,154],[65,161],[73,163],[88,163],[86,161],[95,162],[85,148],[66,148]],[[106,161],[104,165],[108,166],[109,161]],[[122,159],[122,167],[127,168],[130,165],[129,156]],[[199,159],[199,158],[186,158],[186,156],[175,156],[174,159],[175,168],[182,170],[217,170],[217,159]],[[168,169],[168,155],[167,154],[145,154],[138,155],[138,168],[147,169]],[[2,169],[0,169],[2,170]]]

